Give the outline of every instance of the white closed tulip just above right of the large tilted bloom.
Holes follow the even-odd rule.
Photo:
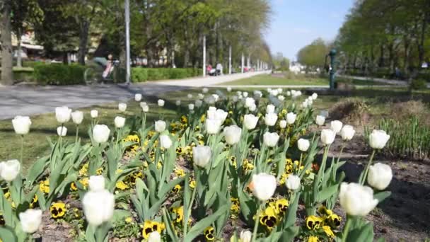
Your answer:
[[[376,163],[368,169],[367,183],[378,190],[385,190],[393,179],[393,171],[387,164]]]

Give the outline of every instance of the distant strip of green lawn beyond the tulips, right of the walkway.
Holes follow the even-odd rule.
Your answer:
[[[247,79],[240,79],[236,81],[230,81],[226,83],[220,83],[219,85],[231,85],[231,86],[243,86],[243,85],[320,85],[327,86],[328,81],[326,79],[303,79],[303,80],[291,80],[281,76],[272,76],[271,74],[262,74],[252,76]]]

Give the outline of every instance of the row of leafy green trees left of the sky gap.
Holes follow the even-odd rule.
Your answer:
[[[27,29],[47,57],[77,51],[85,64],[94,47],[94,56],[112,53],[124,63],[124,0],[4,0],[0,8],[4,83],[11,81],[4,75],[11,69],[10,35],[19,40]],[[200,67],[206,36],[211,64],[226,65],[229,47],[236,64],[242,53],[270,63],[262,38],[270,13],[267,0],[130,0],[132,57],[146,57],[149,67],[164,56],[168,66]]]

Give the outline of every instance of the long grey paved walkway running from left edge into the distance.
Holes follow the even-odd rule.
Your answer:
[[[226,81],[248,78],[267,71],[224,76],[207,76],[177,81],[153,81],[124,85],[94,86],[2,86],[0,87],[0,120],[16,115],[52,113],[55,107],[83,108],[102,103],[126,101],[134,93],[157,96],[169,91],[216,85]]]

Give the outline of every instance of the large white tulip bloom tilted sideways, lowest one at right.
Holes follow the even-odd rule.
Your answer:
[[[340,206],[352,216],[366,216],[378,200],[373,198],[373,190],[358,183],[342,183],[339,192]]]

